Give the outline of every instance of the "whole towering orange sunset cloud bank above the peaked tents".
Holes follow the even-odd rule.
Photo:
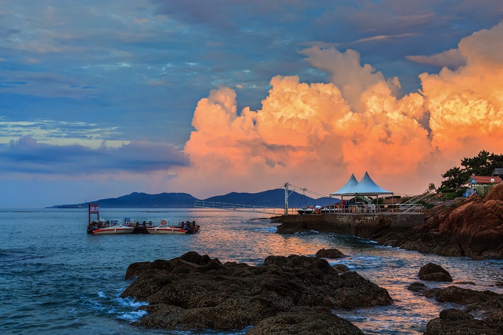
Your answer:
[[[442,57],[428,56],[466,62],[421,74],[421,93],[402,98],[398,78],[361,65],[356,51],[306,49],[307,60],[331,83],[278,75],[262,109],[240,113],[233,90],[211,91],[198,103],[185,146],[192,164],[172,182],[201,196],[286,181],[328,193],[351,172],[367,170],[387,189],[421,192],[462,156],[501,152],[502,41],[500,23],[462,39]]]

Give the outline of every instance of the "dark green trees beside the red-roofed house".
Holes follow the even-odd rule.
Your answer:
[[[461,166],[454,166],[442,175],[444,180],[440,190],[461,190],[470,176],[490,176],[496,167],[503,167],[503,154],[482,150],[475,157],[463,158]]]

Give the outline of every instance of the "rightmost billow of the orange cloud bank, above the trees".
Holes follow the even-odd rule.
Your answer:
[[[463,38],[466,65],[420,75],[430,111],[432,144],[444,156],[503,147],[503,22]]]

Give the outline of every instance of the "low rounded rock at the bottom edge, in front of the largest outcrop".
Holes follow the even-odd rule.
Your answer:
[[[363,335],[351,322],[330,313],[330,310],[307,309],[279,313],[260,321],[246,335]]]

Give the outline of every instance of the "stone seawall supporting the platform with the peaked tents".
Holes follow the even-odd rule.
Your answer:
[[[425,223],[423,213],[325,213],[282,215],[279,233],[316,230],[369,238],[389,231],[409,229]]]

